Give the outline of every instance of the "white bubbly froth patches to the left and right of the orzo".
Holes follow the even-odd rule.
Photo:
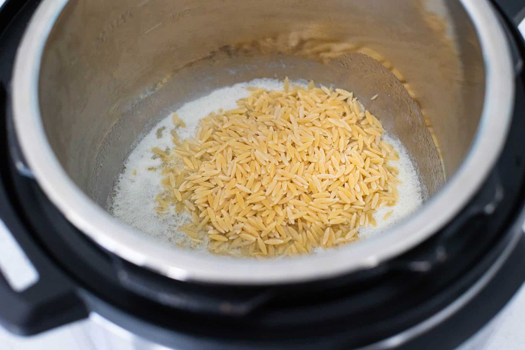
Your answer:
[[[306,86],[303,81],[295,81],[294,84]],[[176,111],[178,117],[186,123],[185,128],[175,128],[181,139],[195,137],[198,120],[205,118],[209,113],[219,109],[228,110],[237,107],[236,101],[249,96],[247,87],[265,88],[267,90],[281,90],[282,81],[276,79],[255,79],[250,82],[238,83],[213,91],[208,96],[184,104]],[[162,130],[162,136],[158,137],[158,130]],[[153,158],[152,147],[161,149],[173,147],[170,131],[174,129],[171,113],[161,120],[154,128],[140,140],[128,156],[124,164],[123,172],[119,175],[114,186],[113,197],[109,199],[111,213],[122,222],[129,224],[148,235],[159,238],[165,242],[172,242],[182,246],[188,246],[200,252],[207,252],[207,241],[202,244],[193,242],[184,232],[177,231],[177,227],[192,220],[187,213],[170,214],[161,217],[153,209],[155,197],[163,191],[161,185],[161,170],[156,169],[161,165],[160,158]],[[399,169],[398,179],[401,184],[397,189],[399,200],[393,207],[380,208],[374,215],[377,227],[361,228],[360,237],[369,237],[391,226],[403,217],[412,213],[422,204],[422,187],[419,183],[416,168],[411,161],[408,152],[400,141],[392,136],[385,135],[385,141],[392,144],[400,155],[400,160],[388,162],[389,165],[397,166]],[[155,168],[148,170],[148,168]],[[136,175],[134,174],[136,172]],[[172,208],[173,209],[173,208]],[[387,220],[383,216],[393,210]]]

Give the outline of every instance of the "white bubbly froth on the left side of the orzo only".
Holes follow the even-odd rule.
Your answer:
[[[303,82],[294,82],[304,85]],[[164,189],[161,185],[160,158],[153,158],[152,147],[165,149],[173,147],[170,131],[176,130],[180,139],[195,137],[199,119],[218,109],[228,110],[237,107],[236,101],[248,97],[248,87],[265,88],[267,90],[282,89],[282,81],[276,79],[255,79],[250,82],[238,83],[213,91],[208,96],[184,104],[176,111],[178,118],[186,123],[185,128],[174,128],[171,114],[156,124],[150,132],[144,135],[135,146],[124,163],[123,172],[119,175],[114,186],[114,195],[109,199],[111,214],[126,224],[140,231],[159,238],[165,242],[178,243],[190,246],[198,251],[207,252],[207,240],[203,244],[192,241],[184,232],[177,228],[192,220],[187,213],[177,215],[173,208],[170,214],[159,216],[153,209],[153,202],[158,193]],[[159,129],[164,128],[162,137],[157,137]],[[148,168],[155,168],[148,170]],[[133,172],[136,172],[136,175]]]

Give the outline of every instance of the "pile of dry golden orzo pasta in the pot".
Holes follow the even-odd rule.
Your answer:
[[[357,239],[373,214],[398,198],[397,160],[381,122],[341,89],[249,88],[234,110],[199,121],[195,139],[162,159],[159,215],[187,210],[179,228],[208,250],[273,257],[312,252]],[[173,114],[176,126],[184,126]],[[387,215],[389,215],[388,213]],[[385,216],[386,218],[386,216]]]

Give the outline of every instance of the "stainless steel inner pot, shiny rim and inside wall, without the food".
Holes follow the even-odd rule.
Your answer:
[[[133,143],[168,112],[219,87],[285,76],[354,91],[411,153],[424,206],[374,238],[268,261],[166,247],[104,210]],[[224,283],[328,277],[429,237],[487,176],[513,93],[487,0],[44,0],[13,79],[24,155],[72,224],[141,266]]]

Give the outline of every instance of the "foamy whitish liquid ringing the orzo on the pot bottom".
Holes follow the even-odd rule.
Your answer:
[[[306,81],[297,81],[294,83],[307,88]],[[205,232],[200,232],[197,236],[195,232],[189,234],[188,230],[183,231],[182,229],[184,229],[184,227],[191,226],[191,223],[194,221],[194,218],[189,214],[189,210],[176,210],[175,205],[170,205],[169,210],[166,211],[155,210],[158,204],[154,202],[156,198],[158,198],[158,194],[163,191],[161,181],[165,175],[163,175],[162,160],[152,151],[152,148],[158,147],[158,149],[161,150],[172,149],[172,147],[175,146],[172,141],[173,131],[181,140],[194,139],[200,119],[205,118],[209,113],[216,112],[219,109],[229,110],[237,108],[236,101],[240,98],[247,98],[250,94],[250,91],[247,90],[248,87],[282,90],[283,82],[275,79],[256,79],[248,83],[238,83],[234,86],[215,90],[208,96],[184,104],[176,111],[183,121],[183,126],[174,127],[171,113],[167,115],[165,119],[155,125],[151,131],[146,133],[142,139],[138,141],[138,144],[128,156],[124,170],[119,175],[118,181],[115,184],[113,195],[109,198],[108,206],[111,208],[111,213],[121,221],[138,228],[145,234],[157,237],[170,244],[192,248],[206,253],[219,252],[233,256],[243,256],[241,249],[217,250],[216,246],[220,246],[222,243],[215,241],[213,238],[210,239],[210,235],[206,235]],[[376,98],[381,97],[373,97],[373,99],[365,101],[365,103],[373,104]],[[378,118],[381,119],[381,116],[378,116]],[[412,213],[412,211],[423,202],[424,190],[419,182],[416,166],[403,144],[397,140],[396,137],[388,133],[382,135],[381,140],[390,143],[399,154],[398,160],[390,160],[387,162],[388,166],[394,167],[398,171],[397,179],[400,181],[397,185],[398,199],[395,205],[383,205],[374,210],[374,219],[371,218],[371,220],[374,221],[373,224],[372,222],[369,224],[368,219],[366,220],[366,225],[364,225],[364,223],[362,225],[358,224],[358,226],[361,227],[356,230],[355,237],[352,235],[351,239],[348,239],[349,242],[358,238],[365,239],[366,237],[377,234]],[[210,224],[212,223],[210,222]],[[241,222],[239,222],[239,224],[241,224]],[[319,222],[319,225],[323,224]],[[244,232],[244,235],[246,234],[247,232]],[[348,232],[342,232],[340,235],[344,237],[347,234]],[[213,235],[211,237],[213,237]],[[243,241],[237,238],[238,235],[232,235],[230,237],[232,238],[230,238],[228,242],[234,239],[237,239],[239,243]],[[276,239],[273,237],[274,235],[270,233],[268,237],[265,237],[265,241],[275,241]],[[283,251],[286,249],[286,238],[283,240],[283,237],[277,237],[279,238],[278,240],[283,242],[277,242],[278,244],[275,245],[275,249],[274,247],[271,248],[271,252],[274,252],[272,255],[280,251],[279,249]],[[219,238],[222,239],[221,236],[217,237],[217,239]],[[260,240],[259,245],[256,243],[253,244],[253,251],[255,251],[256,254],[257,251],[259,251],[259,254],[256,256],[266,256],[268,253],[266,247],[269,246],[263,246],[265,241],[259,239],[259,237],[246,238],[257,239],[257,241]],[[321,245],[323,238],[310,238],[312,242],[302,242],[299,238],[300,244],[304,245],[304,247],[306,247],[305,249],[309,252],[321,251],[320,246],[324,246]],[[342,240],[341,238],[339,239]],[[318,244],[313,243],[313,240],[318,240],[319,242],[316,242]],[[249,243],[249,240],[246,243]],[[332,245],[329,244],[329,246]],[[326,246],[324,247],[326,248]]]

